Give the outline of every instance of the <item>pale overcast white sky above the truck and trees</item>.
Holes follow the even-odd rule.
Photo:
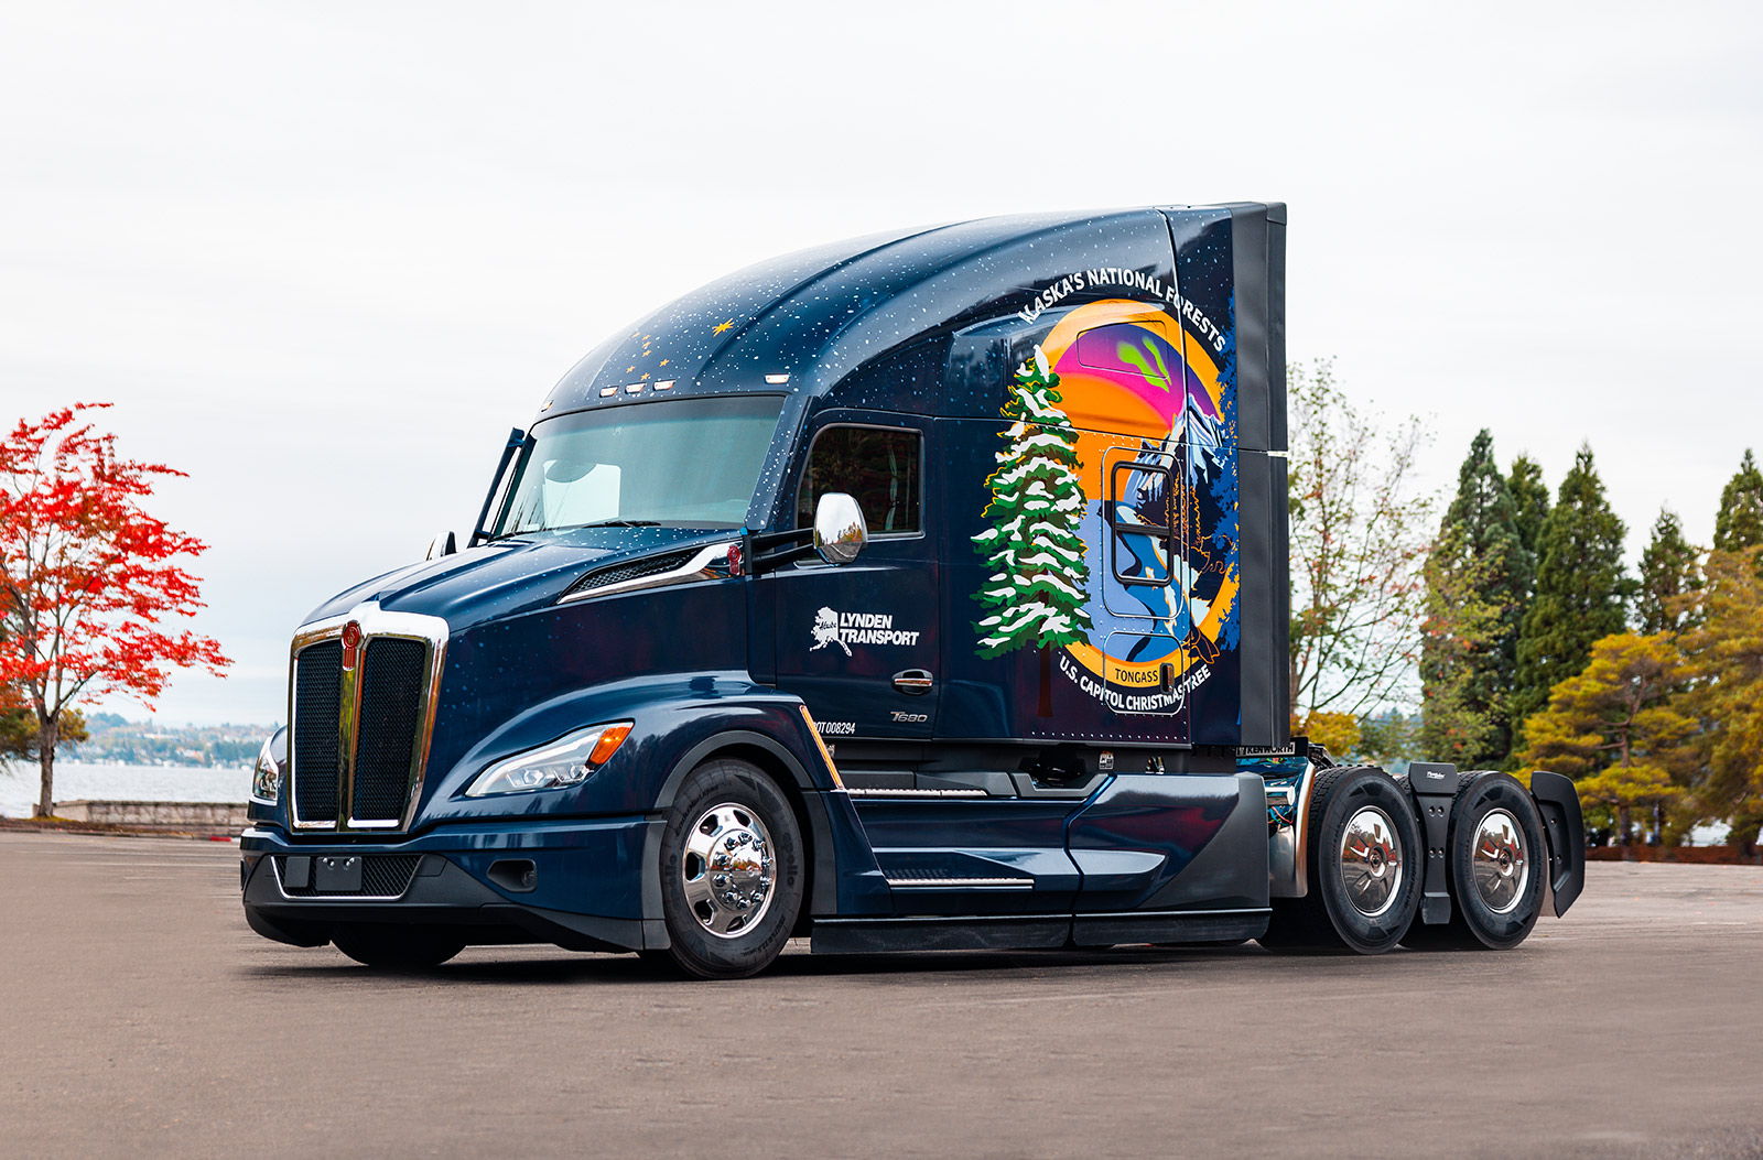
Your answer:
[[[1754,4],[26,4],[0,12],[0,420],[111,400],[286,716],[331,592],[469,527],[626,321],[728,270],[1024,210],[1291,204],[1294,360],[1638,554],[1763,450]],[[139,707],[118,705],[129,716]]]

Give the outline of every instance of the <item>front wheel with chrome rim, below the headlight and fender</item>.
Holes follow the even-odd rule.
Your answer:
[[[698,978],[763,971],[802,911],[804,867],[795,811],[758,767],[721,758],[686,774],[661,832],[673,963]]]

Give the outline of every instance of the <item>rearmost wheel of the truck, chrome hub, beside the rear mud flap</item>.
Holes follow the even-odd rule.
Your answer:
[[[1458,783],[1446,867],[1451,922],[1417,926],[1403,938],[1405,945],[1511,950],[1529,938],[1543,915],[1548,846],[1543,818],[1523,783],[1493,770]]]

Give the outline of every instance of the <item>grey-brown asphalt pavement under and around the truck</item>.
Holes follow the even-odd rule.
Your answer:
[[[1763,869],[1507,954],[809,956],[688,982],[264,941],[224,843],[0,832],[0,1155],[1763,1156]]]

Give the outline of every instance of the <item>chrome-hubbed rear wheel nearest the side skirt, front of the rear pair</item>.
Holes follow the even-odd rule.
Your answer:
[[[1268,950],[1384,954],[1421,904],[1425,844],[1409,795],[1375,765],[1319,770],[1310,788],[1301,899],[1273,899]]]

